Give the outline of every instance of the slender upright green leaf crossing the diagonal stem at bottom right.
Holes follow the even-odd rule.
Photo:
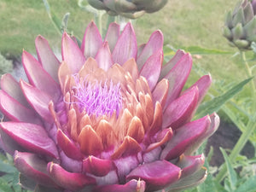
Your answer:
[[[219,149],[224,156],[224,160],[225,160],[225,163],[226,163],[226,166],[228,169],[230,188],[232,189],[232,191],[234,191],[236,189],[236,183],[237,183],[236,172],[233,169],[233,167],[231,166],[230,159],[229,159],[228,155],[226,154],[226,152],[224,151],[224,149],[223,148],[219,148]]]

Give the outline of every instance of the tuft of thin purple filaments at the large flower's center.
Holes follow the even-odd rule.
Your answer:
[[[86,111],[89,115],[96,117],[102,115],[112,115],[114,112],[118,117],[122,108],[122,96],[120,84],[113,84],[113,81],[104,83],[88,81],[86,78],[80,83],[79,75],[74,76],[76,85],[73,86],[76,104],[81,111]]]

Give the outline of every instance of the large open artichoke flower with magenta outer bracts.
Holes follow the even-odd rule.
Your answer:
[[[81,47],[66,32],[58,61],[45,38],[38,59],[25,50],[28,82],[3,75],[3,148],[20,184],[34,191],[179,191],[207,177],[195,150],[218,128],[212,113],[193,119],[211,76],[183,90],[192,57],[177,50],[162,67],[163,35],[137,47],[131,23],[112,23],[104,40],[94,22]]]

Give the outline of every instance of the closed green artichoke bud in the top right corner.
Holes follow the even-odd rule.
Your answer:
[[[243,0],[228,12],[223,34],[238,49],[250,49],[256,41],[256,0]]]

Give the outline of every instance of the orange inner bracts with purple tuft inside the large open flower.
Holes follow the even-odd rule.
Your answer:
[[[147,132],[161,125],[160,103],[154,107],[148,81],[138,75],[133,59],[106,71],[89,58],[76,75],[62,63],[59,79],[67,120],[57,125],[79,144],[82,154],[113,150],[112,158],[118,158],[131,153],[127,145],[140,151]]]

